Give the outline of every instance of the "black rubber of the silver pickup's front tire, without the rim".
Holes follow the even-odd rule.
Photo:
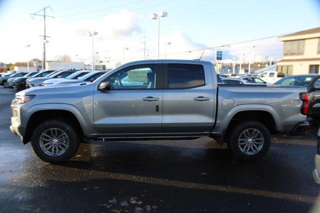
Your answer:
[[[68,137],[68,147],[61,155],[50,156],[46,154],[40,147],[41,134],[50,128],[57,128],[59,130],[62,130]],[[72,127],[71,124],[68,124],[61,120],[44,121],[43,123],[39,124],[32,133],[31,145],[33,152],[39,159],[51,164],[59,164],[68,161],[76,153],[79,146],[79,137],[77,136],[75,129],[76,128]]]

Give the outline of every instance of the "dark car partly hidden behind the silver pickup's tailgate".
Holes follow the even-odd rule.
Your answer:
[[[320,118],[320,75],[302,74],[289,75],[281,78],[273,85],[279,86],[304,86],[309,94],[309,116],[313,119]]]

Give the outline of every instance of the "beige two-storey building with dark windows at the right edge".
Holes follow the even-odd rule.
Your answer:
[[[280,36],[278,41],[283,41],[283,53],[276,71],[286,75],[319,73],[320,27]]]

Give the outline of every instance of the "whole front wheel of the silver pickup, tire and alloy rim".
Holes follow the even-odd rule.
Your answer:
[[[34,129],[31,145],[39,159],[58,164],[72,158],[78,149],[79,138],[71,125],[60,120],[49,120]]]

